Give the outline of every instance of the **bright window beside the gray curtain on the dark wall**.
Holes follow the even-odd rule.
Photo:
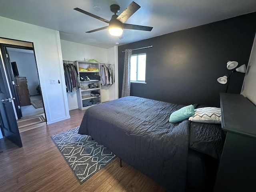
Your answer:
[[[137,83],[146,82],[146,53],[132,55],[130,81]]]

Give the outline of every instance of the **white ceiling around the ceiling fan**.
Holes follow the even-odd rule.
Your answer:
[[[110,48],[116,42],[127,44],[256,11],[256,0],[134,1],[141,8],[125,23],[152,26],[153,30],[125,29],[122,40],[110,36],[107,29],[85,33],[108,24],[73,9],[78,7],[110,20],[111,4],[120,6],[120,14],[132,0],[0,0],[0,16],[59,30],[63,40]],[[94,6],[102,9],[97,12]]]

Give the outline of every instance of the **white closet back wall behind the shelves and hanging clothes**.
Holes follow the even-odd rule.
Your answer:
[[[76,42],[70,42],[66,40],[60,40],[61,42],[61,50],[62,50],[62,58],[63,60],[68,61],[75,61],[75,60],[82,60],[84,59],[88,61],[89,59],[95,59],[100,63],[111,63],[114,64],[114,48],[110,49],[104,49],[94,46],[89,46],[85,44],[80,44]],[[114,86],[112,86],[114,87]],[[112,92],[115,91],[111,90],[109,92],[109,87],[102,86],[102,92],[101,92],[101,99],[102,102],[110,100],[110,96]],[[68,92],[68,107],[69,110],[77,109],[78,103],[77,103],[77,96],[76,91],[74,92]],[[112,98],[112,96],[111,96]],[[112,99],[111,99],[112,100]]]

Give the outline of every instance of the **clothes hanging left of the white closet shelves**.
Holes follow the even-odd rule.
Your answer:
[[[66,92],[72,92],[74,88],[76,88],[76,90],[80,88],[78,72],[73,62],[63,61],[63,67],[64,67],[64,76],[65,76],[65,83],[66,83]]]

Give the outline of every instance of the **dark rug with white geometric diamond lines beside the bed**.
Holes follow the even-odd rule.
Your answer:
[[[51,136],[77,180],[82,184],[116,155],[88,135],[78,134],[79,127]]]

